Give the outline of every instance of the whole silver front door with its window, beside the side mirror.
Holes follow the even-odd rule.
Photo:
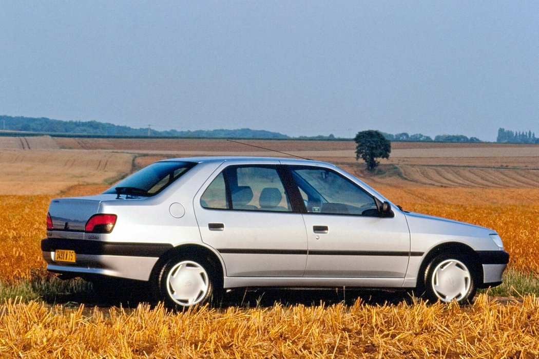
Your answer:
[[[305,277],[397,279],[388,285],[404,278],[410,232],[403,213],[381,216],[374,196],[335,170],[292,167],[291,174],[305,204]]]

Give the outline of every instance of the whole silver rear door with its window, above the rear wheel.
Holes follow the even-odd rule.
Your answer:
[[[305,272],[305,223],[292,211],[280,171],[277,163],[225,165],[195,197],[202,240],[222,256],[227,277]]]

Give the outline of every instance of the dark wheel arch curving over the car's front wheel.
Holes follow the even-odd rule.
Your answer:
[[[477,254],[472,247],[464,243],[448,242],[431,248],[431,250],[426,254],[425,258],[423,258],[423,261],[419,266],[419,272],[417,273],[416,286],[420,287],[423,285],[427,266],[429,266],[431,261],[440,254],[447,254],[448,256],[455,254],[457,256],[465,256],[469,258],[470,263],[468,264],[471,266],[469,270],[472,271],[474,276],[475,286],[480,288],[483,285],[483,266],[480,263],[479,254]]]

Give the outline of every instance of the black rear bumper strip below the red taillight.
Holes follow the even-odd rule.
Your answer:
[[[160,257],[171,248],[169,243],[124,243],[64,238],[45,238],[41,241],[43,252],[63,249],[93,256]]]

